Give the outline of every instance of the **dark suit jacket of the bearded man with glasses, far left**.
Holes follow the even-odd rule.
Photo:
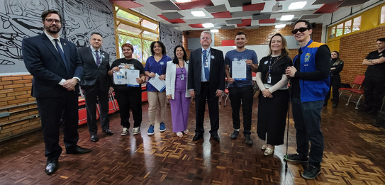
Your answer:
[[[73,43],[60,38],[65,53],[65,63],[45,33],[30,38],[24,38],[21,43],[23,60],[28,72],[33,75],[32,95],[35,98],[53,98],[64,96],[68,91],[59,85],[62,79],[81,79],[83,73],[82,61],[77,55]],[[79,85],[75,86],[74,94],[79,94]]]

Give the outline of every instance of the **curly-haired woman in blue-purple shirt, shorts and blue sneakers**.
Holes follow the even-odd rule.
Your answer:
[[[166,47],[164,47],[162,42],[154,41],[151,43],[150,47],[152,56],[147,58],[145,65],[145,75],[148,77],[149,82],[151,78],[156,77],[156,74],[159,75],[160,80],[164,81],[166,78],[167,61],[170,61],[171,58],[166,55]],[[148,120],[150,122],[150,127],[147,130],[147,134],[154,135],[154,124],[158,103],[160,106],[159,130],[160,132],[164,132],[166,130],[164,119],[166,118],[167,96],[165,86],[163,89],[158,90],[150,83],[147,83]]]

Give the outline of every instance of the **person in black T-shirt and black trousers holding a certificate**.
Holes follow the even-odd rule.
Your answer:
[[[139,86],[127,86],[127,84],[113,84],[115,97],[119,105],[119,114],[121,116],[121,125],[123,130],[121,135],[128,134],[130,128],[130,109],[133,111],[133,135],[140,133],[142,124],[142,86],[145,82],[145,69],[138,60],[133,58],[133,45],[125,43],[121,46],[124,58],[113,61],[108,75],[113,77],[113,72],[119,72],[121,69],[139,70],[140,77],[136,78]]]

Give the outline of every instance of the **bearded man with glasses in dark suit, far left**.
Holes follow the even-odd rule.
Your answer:
[[[73,43],[59,37],[62,17],[55,10],[41,15],[44,33],[23,39],[21,48],[28,72],[33,75],[32,95],[36,98],[43,127],[45,173],[57,169],[62,153],[59,145],[60,120],[62,119],[65,150],[67,154],[91,152],[77,145],[78,94],[82,77],[82,61]]]

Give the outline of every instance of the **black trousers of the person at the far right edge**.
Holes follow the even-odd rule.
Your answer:
[[[385,92],[385,79],[366,76],[364,81],[365,106],[367,109],[378,111],[381,108],[382,97]]]

